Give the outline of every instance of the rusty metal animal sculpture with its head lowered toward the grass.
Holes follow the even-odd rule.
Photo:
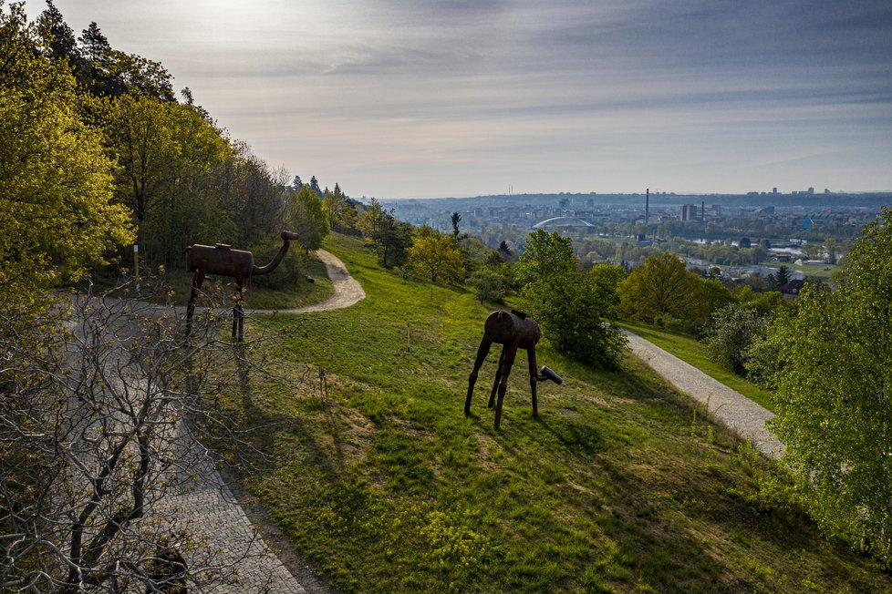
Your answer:
[[[477,373],[490,352],[493,343],[502,344],[502,354],[499,356],[499,367],[495,372],[495,383],[490,392],[489,408],[493,408],[495,394],[498,392],[499,400],[495,405],[495,428],[499,428],[502,421],[502,402],[505,390],[508,388],[508,375],[511,374],[511,366],[517,349],[526,350],[527,360],[530,364],[530,389],[533,391],[533,416],[539,415],[539,405],[536,402],[535,386],[538,382],[551,380],[555,384],[561,384],[564,380],[548,367],[543,366],[536,373],[535,345],[539,342],[539,325],[526,317],[524,312],[512,310],[509,312],[492,312],[483,324],[483,339],[477,349],[477,359],[474,361],[474,369],[468,377],[468,396],[464,401],[464,414],[471,415],[471,397],[474,393],[474,384],[477,383]]]

